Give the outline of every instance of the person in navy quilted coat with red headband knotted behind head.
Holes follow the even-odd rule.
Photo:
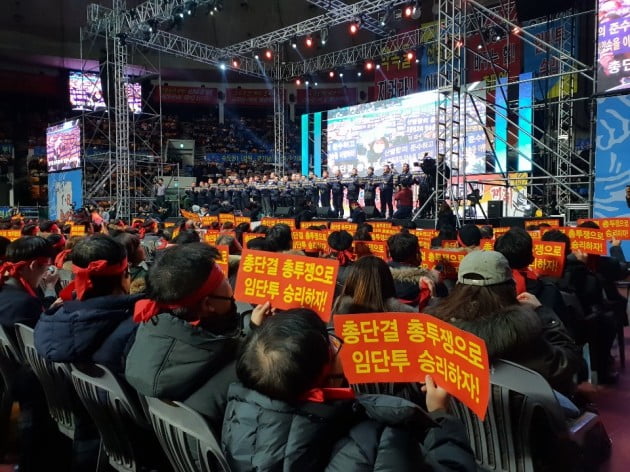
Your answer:
[[[95,362],[122,374],[140,295],[129,295],[127,251],[106,235],[83,238],[72,249],[74,280],[61,306],[35,326],[35,348],[53,362]]]

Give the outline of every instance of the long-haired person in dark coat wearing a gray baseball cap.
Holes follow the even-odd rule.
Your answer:
[[[558,325],[543,324],[535,311],[540,306],[530,293],[517,296],[503,254],[474,251],[462,259],[449,296],[425,311],[483,339],[491,359],[528,367],[570,396],[581,367],[580,350]]]

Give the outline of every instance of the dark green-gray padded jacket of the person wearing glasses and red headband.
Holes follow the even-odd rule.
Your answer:
[[[138,328],[125,377],[142,395],[182,401],[221,430],[228,386],[237,380],[240,331],[220,336],[161,313]]]

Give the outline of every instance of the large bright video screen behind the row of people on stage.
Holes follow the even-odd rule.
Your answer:
[[[391,163],[400,172],[425,152],[436,157],[437,100],[437,92],[428,91],[329,111],[329,171],[348,174],[356,167],[362,175],[371,166],[380,174]],[[468,96],[467,105],[466,142],[461,140],[466,172],[481,174],[486,172],[485,104]]]

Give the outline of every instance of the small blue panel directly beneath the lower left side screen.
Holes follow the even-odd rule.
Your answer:
[[[48,217],[65,220],[72,216],[72,205],[83,206],[83,170],[48,174]]]

